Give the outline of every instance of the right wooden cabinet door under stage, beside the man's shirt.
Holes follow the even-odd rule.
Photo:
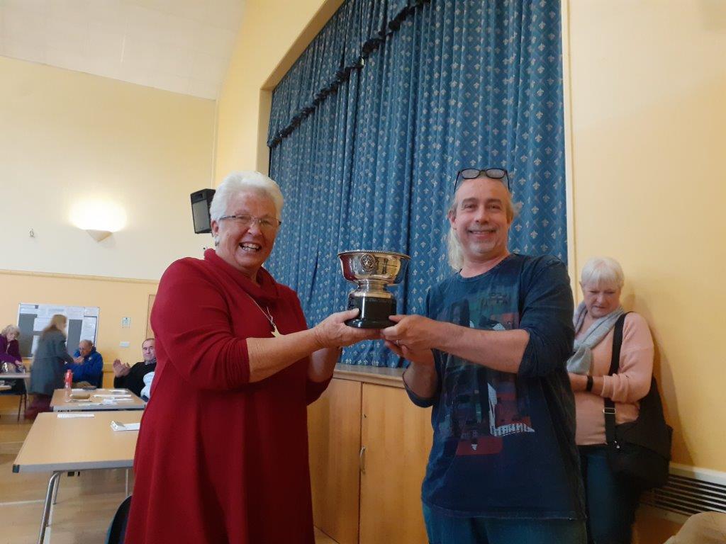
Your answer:
[[[360,544],[428,542],[421,482],[432,439],[431,408],[398,387],[363,384]]]

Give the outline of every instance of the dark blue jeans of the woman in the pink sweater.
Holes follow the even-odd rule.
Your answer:
[[[630,544],[640,490],[616,476],[608,465],[607,446],[581,446],[580,467],[587,503],[591,544]]]

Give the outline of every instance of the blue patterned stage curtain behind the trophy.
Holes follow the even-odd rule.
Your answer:
[[[457,170],[510,171],[510,250],[565,260],[560,3],[348,0],[274,91],[270,173],[285,194],[269,262],[310,323],[354,286],[336,254],[411,255],[395,288],[420,313],[446,264]],[[382,342],[343,362],[398,366]]]

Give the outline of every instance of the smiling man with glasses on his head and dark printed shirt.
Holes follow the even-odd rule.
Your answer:
[[[514,218],[503,168],[457,176],[449,209],[454,275],[425,316],[391,316],[386,345],[410,361],[409,397],[433,406],[423,481],[440,544],[584,544],[574,401],[572,292],[555,257],[507,249]],[[460,182],[460,183],[459,183]]]

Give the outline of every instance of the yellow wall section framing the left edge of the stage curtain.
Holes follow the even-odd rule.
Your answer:
[[[264,142],[269,124],[269,90],[342,3],[246,2],[242,28],[219,97],[217,183],[232,170],[267,171],[269,155]]]

